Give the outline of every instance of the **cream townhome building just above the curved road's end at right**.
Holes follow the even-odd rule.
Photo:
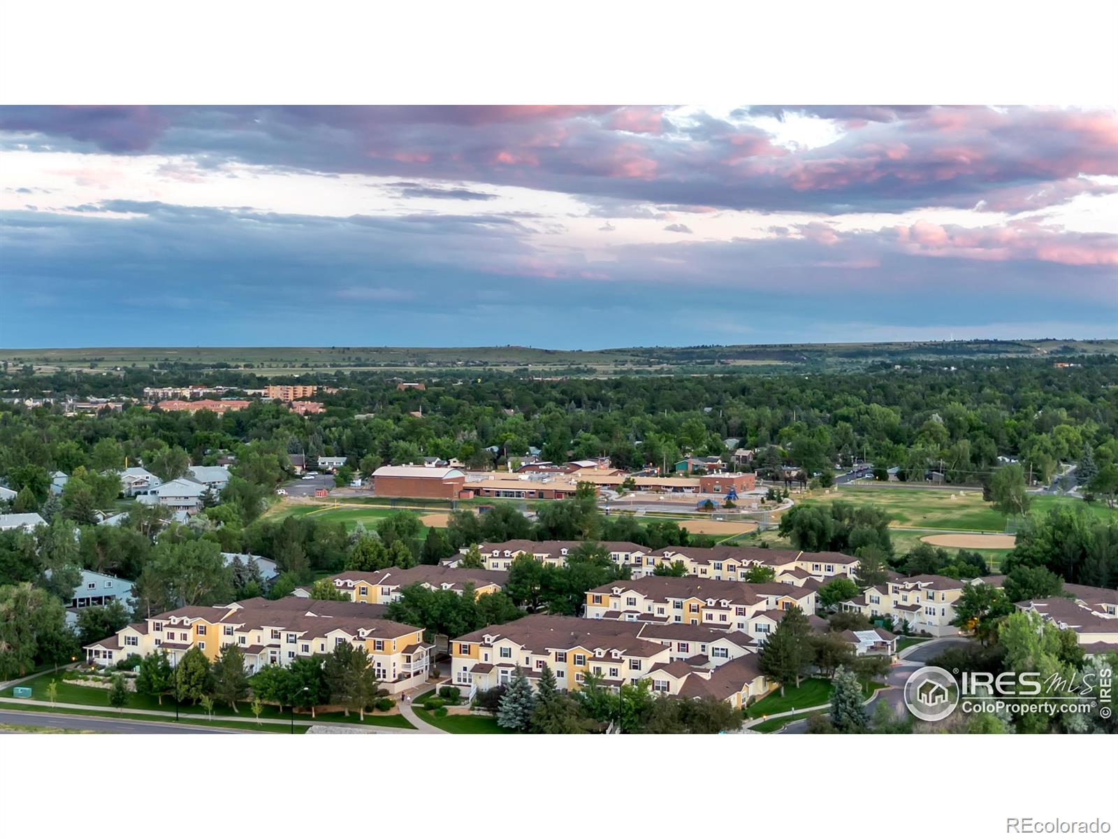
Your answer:
[[[890,618],[894,626],[908,624],[912,632],[927,632],[937,638],[959,634],[955,620],[955,602],[967,583],[985,582],[953,579],[939,574],[925,574],[889,579],[870,586],[862,594],[840,605],[843,611],[861,612],[871,620]]]

